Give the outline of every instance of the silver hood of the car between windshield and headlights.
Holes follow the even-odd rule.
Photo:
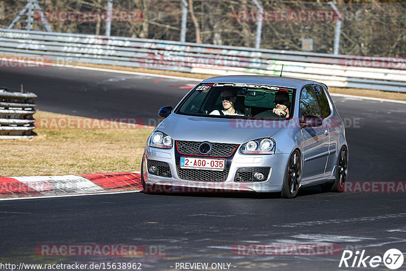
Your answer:
[[[253,139],[272,137],[288,123],[288,120],[221,119],[173,113],[156,130],[174,140],[243,144]]]

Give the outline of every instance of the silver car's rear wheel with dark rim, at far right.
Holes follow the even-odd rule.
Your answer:
[[[347,181],[347,173],[348,150],[346,146],[343,146],[340,150],[339,157],[337,158],[334,182],[322,184],[321,189],[325,192],[343,192]]]

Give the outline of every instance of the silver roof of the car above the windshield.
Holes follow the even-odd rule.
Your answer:
[[[279,77],[267,75],[228,75],[216,76],[202,81],[202,83],[245,83],[245,84],[259,84],[259,85],[273,85],[297,88],[302,83],[318,83],[307,79],[292,78],[292,77]],[[320,83],[318,83],[320,84]]]

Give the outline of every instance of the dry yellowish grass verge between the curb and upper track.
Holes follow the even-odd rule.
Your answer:
[[[36,119],[78,118],[44,111],[37,111],[34,116]],[[152,130],[142,126],[121,129],[39,127],[35,129],[38,136],[30,140],[1,141],[0,176],[140,171],[144,144]]]

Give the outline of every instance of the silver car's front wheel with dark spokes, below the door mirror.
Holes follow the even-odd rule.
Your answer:
[[[298,150],[289,157],[282,186],[282,197],[293,198],[297,196],[301,180],[301,158]]]

